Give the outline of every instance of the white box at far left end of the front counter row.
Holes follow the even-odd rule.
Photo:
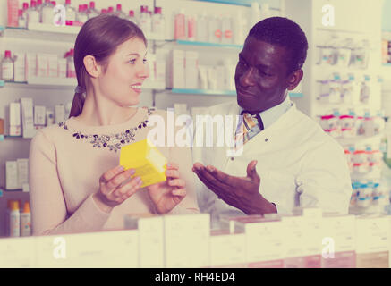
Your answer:
[[[0,240],[0,268],[33,268],[36,266],[36,238]]]

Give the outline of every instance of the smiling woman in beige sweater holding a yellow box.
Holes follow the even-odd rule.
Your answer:
[[[159,147],[173,162],[167,180],[144,189],[134,170],[118,165],[122,146],[147,138],[149,115],[166,117],[132,107],[149,77],[146,46],[142,31],[116,16],[81,28],[70,118],[38,131],[30,145],[34,235],[122,229],[124,214],[199,212],[189,148]]]

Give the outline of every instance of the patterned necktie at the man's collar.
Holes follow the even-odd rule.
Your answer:
[[[241,147],[250,139],[264,129],[262,119],[259,113],[250,113],[246,110],[242,111],[242,122],[239,122],[235,132],[235,147]]]

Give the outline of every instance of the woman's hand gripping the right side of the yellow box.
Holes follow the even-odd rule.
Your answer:
[[[154,203],[157,214],[166,214],[186,197],[185,181],[180,179],[177,164],[169,163],[166,168],[166,181],[147,187],[149,197]]]

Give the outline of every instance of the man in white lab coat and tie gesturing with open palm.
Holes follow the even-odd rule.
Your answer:
[[[286,18],[251,29],[235,71],[237,102],[206,112],[242,114],[233,130],[242,155],[227,156],[227,147],[193,147],[202,212],[216,219],[312,206],[347,214],[352,186],[343,148],[287,96],[302,80],[307,49],[302,29]]]

